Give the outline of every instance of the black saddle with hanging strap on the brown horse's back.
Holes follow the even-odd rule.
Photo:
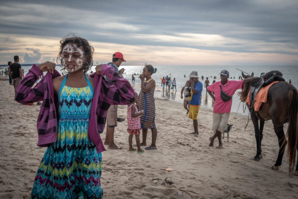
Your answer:
[[[249,94],[249,111],[254,113],[254,101],[261,88],[266,87],[271,84],[273,81],[285,81],[282,77],[283,74],[279,71],[270,71],[266,73],[263,78],[255,77],[250,81],[250,94]]]

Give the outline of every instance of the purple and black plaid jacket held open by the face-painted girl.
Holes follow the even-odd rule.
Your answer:
[[[43,73],[33,64],[21,81],[15,94],[20,103],[43,101],[37,118],[37,146],[47,147],[57,139],[58,97],[54,95],[53,78],[61,76],[58,71],[46,76],[34,88],[32,86]],[[103,78],[106,75],[112,82]],[[127,105],[135,100],[135,90],[130,83],[120,78],[113,67],[104,64],[100,75],[93,73],[94,97],[91,105],[88,137],[96,145],[97,152],[105,151],[99,133],[105,126],[107,110],[111,104]]]

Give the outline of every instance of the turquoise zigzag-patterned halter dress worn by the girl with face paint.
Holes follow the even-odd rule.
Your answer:
[[[39,165],[32,199],[101,199],[102,156],[88,138],[93,88],[65,86],[59,90],[57,141],[45,152]]]

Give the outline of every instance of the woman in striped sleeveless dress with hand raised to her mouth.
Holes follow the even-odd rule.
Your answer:
[[[155,90],[155,81],[151,78],[151,75],[156,72],[157,69],[154,69],[151,65],[145,65],[143,69],[143,74],[140,75],[141,79],[141,92],[139,95],[139,108],[144,110],[144,115],[141,117],[141,128],[143,134],[143,146],[146,146],[147,132],[148,129],[151,129],[152,133],[152,142],[149,147],[146,147],[147,150],[157,149],[156,147],[156,137],[157,129],[155,126],[155,102],[154,102],[154,90]],[[145,80],[146,79],[146,80]]]

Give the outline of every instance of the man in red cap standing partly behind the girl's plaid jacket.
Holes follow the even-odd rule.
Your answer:
[[[123,54],[121,52],[116,52],[113,54],[112,62],[108,63],[108,65],[112,66],[115,71],[119,73],[119,75],[122,77],[122,74],[124,72],[124,68],[122,68],[120,71],[118,70],[119,66],[122,64],[122,62],[126,62],[126,60],[123,58]],[[123,77],[122,77],[123,78]],[[110,81],[108,78],[106,80]],[[121,147],[118,147],[114,143],[114,131],[115,126],[117,126],[117,121],[123,121],[124,119],[119,118],[117,120],[117,111],[118,111],[118,105],[111,105],[107,112],[107,132],[106,132],[106,139],[104,141],[105,145],[109,145],[109,149],[121,149]]]

